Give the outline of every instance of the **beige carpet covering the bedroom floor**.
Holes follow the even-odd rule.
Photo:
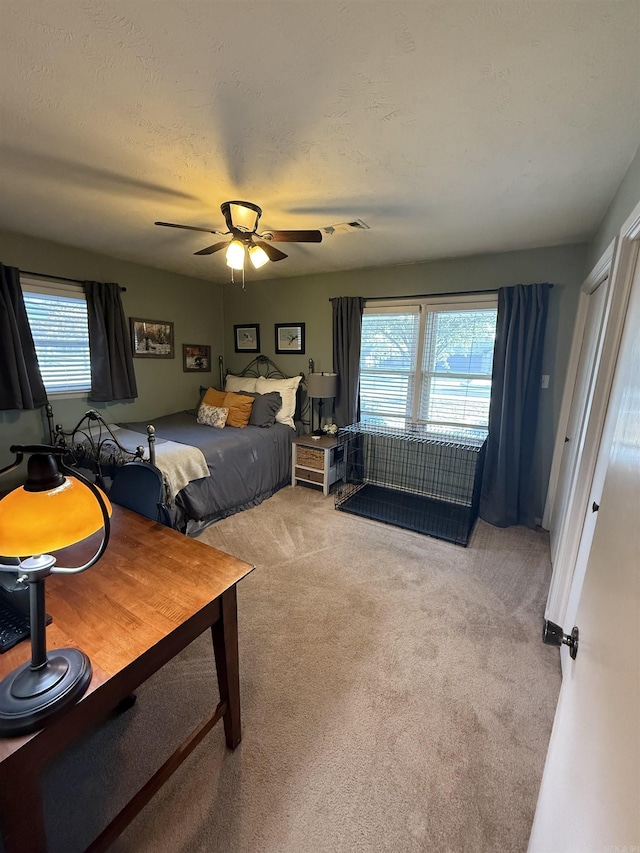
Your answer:
[[[257,566],[243,740],[216,727],[114,850],[526,850],[560,686],[546,534],[478,522],[465,549],[288,487],[201,539]],[[204,636],[52,766],[52,849],[83,849],[215,701]]]

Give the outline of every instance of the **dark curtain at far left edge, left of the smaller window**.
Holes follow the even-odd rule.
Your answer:
[[[46,402],[20,270],[0,264],[0,409],[37,409]]]

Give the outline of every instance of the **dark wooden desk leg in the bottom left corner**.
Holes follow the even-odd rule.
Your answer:
[[[36,853],[47,849],[40,781],[20,773],[0,795],[0,827],[6,853]]]

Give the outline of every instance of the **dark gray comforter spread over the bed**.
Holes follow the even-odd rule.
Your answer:
[[[121,426],[142,433],[149,421]],[[200,448],[210,477],[194,480],[176,497],[174,526],[196,533],[212,521],[256,506],[291,482],[291,442],[295,432],[284,424],[243,429],[215,429],[195,415],[176,412],[151,421],[158,438]]]

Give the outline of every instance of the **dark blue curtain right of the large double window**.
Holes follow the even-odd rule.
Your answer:
[[[533,453],[549,284],[498,291],[489,436],[480,517],[497,527],[535,527]]]

